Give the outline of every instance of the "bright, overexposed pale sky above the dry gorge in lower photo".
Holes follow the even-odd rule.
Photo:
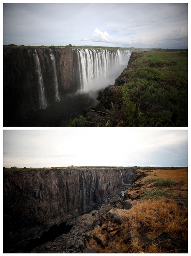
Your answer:
[[[187,130],[91,128],[4,130],[4,167],[187,166]]]

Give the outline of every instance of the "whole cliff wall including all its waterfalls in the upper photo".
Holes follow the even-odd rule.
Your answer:
[[[63,106],[67,96],[69,101],[77,94],[94,97],[98,89],[114,84],[130,55],[121,49],[4,48],[4,126],[51,105],[69,109]]]

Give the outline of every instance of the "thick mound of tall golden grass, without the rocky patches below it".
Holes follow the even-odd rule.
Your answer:
[[[118,212],[125,224],[124,236],[130,231],[139,235],[152,232],[155,236],[167,232],[178,240],[187,241],[187,208],[178,207],[174,200],[143,200],[131,210]]]

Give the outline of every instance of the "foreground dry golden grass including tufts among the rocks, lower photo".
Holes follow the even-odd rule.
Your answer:
[[[160,247],[156,243],[141,246],[139,237],[147,234],[152,240],[159,234],[167,232],[173,238],[187,241],[187,208],[180,208],[174,200],[161,198],[160,200],[140,200],[130,210],[118,209],[122,223],[110,223],[108,220],[104,225],[119,228],[119,234],[111,240],[107,239],[107,233],[101,234],[102,228],[97,228],[89,232],[94,233],[102,240],[103,247],[97,245],[93,239],[88,247],[97,247],[99,253],[161,253]],[[131,243],[123,242],[126,234],[131,232],[133,238]],[[174,249],[173,252],[178,252]]]

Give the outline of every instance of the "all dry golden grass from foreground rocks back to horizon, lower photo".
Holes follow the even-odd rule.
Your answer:
[[[187,171],[188,169],[186,168],[146,172],[148,176],[142,177],[135,182],[135,184],[139,184],[135,186],[135,190],[137,187],[142,190],[142,186],[146,191],[151,190],[154,184],[151,183],[151,179],[173,179],[174,184],[163,186],[162,188],[161,186],[157,187],[158,189],[169,191],[171,196],[162,197],[158,200],[138,200],[130,210],[122,209],[122,205],[119,203],[116,209],[121,216],[122,223],[111,223],[106,220],[102,225],[102,228],[104,225],[118,227],[118,235],[108,240],[107,233],[102,235],[102,228],[97,228],[88,234],[93,235],[96,233],[104,246],[97,245],[93,239],[87,246],[97,247],[99,253],[179,253],[180,251],[171,245],[171,240],[164,241],[164,248],[161,248],[156,242],[141,245],[139,237],[146,234],[153,240],[161,233],[166,232],[178,241],[187,243]],[[178,196],[182,196],[182,199],[180,198],[181,201],[173,199]],[[125,243],[123,238],[129,232],[132,234],[131,242]]]

